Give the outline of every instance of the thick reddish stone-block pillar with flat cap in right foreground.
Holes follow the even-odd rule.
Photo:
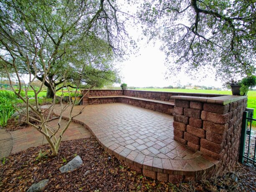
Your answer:
[[[174,139],[219,160],[220,171],[233,167],[238,160],[247,96],[173,97]]]

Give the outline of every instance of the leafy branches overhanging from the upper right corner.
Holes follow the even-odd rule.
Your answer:
[[[145,0],[138,15],[147,25],[144,33],[161,38],[170,74],[195,75],[210,66],[228,81],[255,73],[255,5],[254,0]]]

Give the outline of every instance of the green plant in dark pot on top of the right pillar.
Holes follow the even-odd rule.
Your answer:
[[[228,84],[231,87],[232,95],[246,95],[249,88],[256,86],[256,76],[247,76],[240,81],[231,81]]]

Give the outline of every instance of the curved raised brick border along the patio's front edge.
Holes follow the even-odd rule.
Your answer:
[[[54,114],[59,116],[58,110],[54,109]],[[63,119],[68,120],[68,116],[63,113]],[[77,116],[73,122],[78,123],[89,129],[92,135],[96,138],[99,144],[105,151],[113,154],[121,163],[127,164],[131,169],[136,172],[142,173],[146,177],[157,179],[162,182],[180,182],[189,180],[199,180],[203,175],[213,173],[218,167],[218,160],[213,159],[201,152],[196,152],[191,159],[165,159],[156,158],[144,155],[135,151],[129,151],[126,147],[109,141],[100,134],[95,133],[93,126],[89,126],[87,120],[82,121]],[[180,147],[186,148],[183,145]]]

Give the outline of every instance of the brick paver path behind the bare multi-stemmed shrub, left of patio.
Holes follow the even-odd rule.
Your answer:
[[[63,128],[66,125],[66,123],[67,121],[62,119],[61,128]],[[58,124],[58,119],[50,121],[48,124],[55,128]],[[40,132],[35,130],[33,127],[11,131],[10,134],[13,137],[12,153],[20,152],[30,147],[37,147],[47,143],[47,140],[44,138],[44,136]],[[69,125],[68,130],[63,135],[63,141],[89,138],[90,136],[90,131],[86,129],[83,125],[72,122]]]

